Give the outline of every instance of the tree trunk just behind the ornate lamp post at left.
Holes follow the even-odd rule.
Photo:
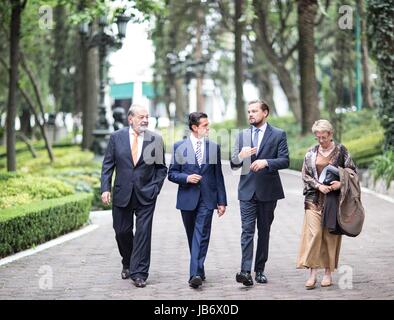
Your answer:
[[[85,48],[85,50],[88,49]],[[84,97],[82,148],[90,149],[93,143],[93,130],[98,118],[99,58],[97,48],[88,50],[83,63],[86,66],[86,73],[83,76],[84,91],[82,92]]]

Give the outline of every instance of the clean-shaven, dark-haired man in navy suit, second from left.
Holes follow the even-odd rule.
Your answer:
[[[190,287],[205,280],[204,261],[211,235],[213,211],[225,213],[227,199],[220,147],[206,137],[208,116],[189,115],[191,134],[174,145],[168,179],[179,185],[176,208],[181,210],[190,250]]]

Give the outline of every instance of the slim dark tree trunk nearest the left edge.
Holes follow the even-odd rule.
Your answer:
[[[16,171],[16,150],[15,150],[15,117],[16,117],[16,90],[18,86],[18,64],[19,64],[19,39],[21,27],[21,14],[26,1],[11,0],[11,21],[10,21],[10,69],[8,84],[8,104],[7,104],[7,170]]]

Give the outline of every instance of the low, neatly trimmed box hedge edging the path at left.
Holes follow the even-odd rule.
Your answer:
[[[81,193],[0,210],[0,257],[81,227],[91,203],[92,195]]]

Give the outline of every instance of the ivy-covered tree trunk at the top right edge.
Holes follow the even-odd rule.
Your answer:
[[[385,150],[394,150],[394,6],[393,1],[370,0],[368,22],[371,51],[379,70],[379,117],[385,131]]]

